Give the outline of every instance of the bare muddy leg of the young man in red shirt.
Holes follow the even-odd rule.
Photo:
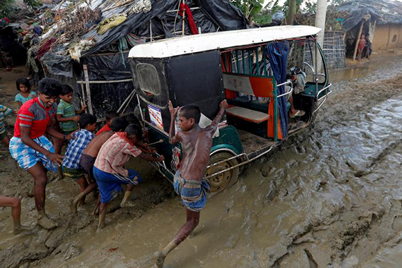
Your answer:
[[[44,201],[46,199],[46,169],[41,162],[37,162],[35,166],[28,169],[28,173],[35,180],[35,206],[37,209],[37,223],[45,229],[55,228],[57,224],[47,217],[44,212]]]

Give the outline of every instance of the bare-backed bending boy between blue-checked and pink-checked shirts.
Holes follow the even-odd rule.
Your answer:
[[[94,177],[94,164],[96,157],[98,156],[100,147],[109,140],[112,135],[116,132],[124,131],[128,126],[128,122],[124,117],[116,117],[112,120],[112,124],[110,124],[111,131],[105,131],[101,135],[94,137],[91,142],[85,147],[84,151],[82,151],[82,155],[80,157],[80,167],[84,169],[85,173],[88,174],[88,178],[90,181],[96,183],[96,179]],[[74,203],[76,200],[73,201]],[[100,206],[100,196],[98,196],[98,203],[96,203],[96,207],[94,209],[94,215],[98,214]]]

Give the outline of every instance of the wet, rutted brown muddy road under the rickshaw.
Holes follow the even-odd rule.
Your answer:
[[[195,236],[165,267],[400,267],[401,60],[334,72],[334,93],[314,126],[209,199]],[[0,194],[20,196],[22,221],[34,226],[32,182],[5,154],[1,162]],[[53,231],[14,236],[10,211],[0,210],[0,267],[151,267],[184,223],[184,208],[163,179],[146,178],[132,195],[137,208],[116,203],[102,233],[90,215],[94,201],[71,217],[78,187],[66,179],[47,190],[60,225]]]

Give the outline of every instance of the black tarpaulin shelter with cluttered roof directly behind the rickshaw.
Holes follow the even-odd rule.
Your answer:
[[[136,97],[128,62],[130,48],[143,42],[191,35],[190,25],[194,24],[200,33],[248,27],[243,13],[227,0],[184,1],[187,10],[191,10],[193,21],[189,21],[188,15],[180,15],[182,2],[92,0],[81,3],[69,12],[78,14],[83,8],[91,9],[89,12],[93,14],[88,19],[87,31],[80,36],[70,36],[65,42],[60,41],[69,29],[60,31],[63,22],[55,22],[42,35],[37,47],[37,51],[41,51],[40,48],[49,42],[49,50],[39,55],[40,64],[49,76],[74,85],[76,93],[89,104],[89,112],[98,118],[107,110],[132,112]]]

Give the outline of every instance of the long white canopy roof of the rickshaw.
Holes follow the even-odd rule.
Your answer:
[[[321,29],[313,26],[274,26],[237,31],[186,35],[139,44],[130,50],[129,58],[167,58],[184,54],[241,47],[275,40],[316,35]]]

